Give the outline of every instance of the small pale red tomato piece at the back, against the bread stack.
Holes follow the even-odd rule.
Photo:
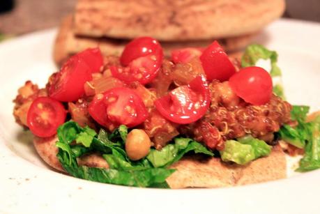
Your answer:
[[[191,59],[201,56],[203,51],[201,47],[174,49],[171,52],[171,59],[174,63],[188,63]]]

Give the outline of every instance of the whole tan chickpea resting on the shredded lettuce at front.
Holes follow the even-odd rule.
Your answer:
[[[146,157],[150,151],[150,147],[150,138],[141,129],[134,129],[129,132],[125,140],[125,151],[131,160],[139,160]]]

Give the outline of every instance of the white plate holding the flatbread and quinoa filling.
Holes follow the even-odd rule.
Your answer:
[[[0,213],[319,213],[320,171],[237,188],[154,190],[84,181],[48,170],[15,124],[27,79],[44,86],[55,30],[0,45]],[[280,55],[287,98],[320,109],[320,26],[280,20],[257,39]]]

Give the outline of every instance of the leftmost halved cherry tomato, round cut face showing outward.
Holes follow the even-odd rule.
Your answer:
[[[39,97],[33,100],[26,116],[26,123],[38,137],[51,137],[66,120],[66,109],[52,98]]]

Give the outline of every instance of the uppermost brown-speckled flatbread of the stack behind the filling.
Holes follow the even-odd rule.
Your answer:
[[[263,29],[284,7],[284,0],[79,0],[75,33],[158,40],[224,38]]]

